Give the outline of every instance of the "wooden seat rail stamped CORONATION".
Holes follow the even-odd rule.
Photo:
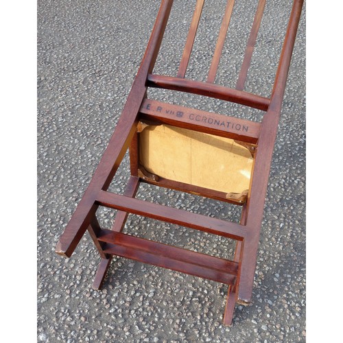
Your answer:
[[[153,99],[144,99],[139,112],[143,113],[145,118],[158,120],[161,123],[254,144],[257,143],[261,130],[261,123],[255,121],[167,104]]]

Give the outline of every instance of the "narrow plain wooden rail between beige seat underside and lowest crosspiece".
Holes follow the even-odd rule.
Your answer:
[[[195,228],[196,230],[214,233],[215,235],[237,239],[239,241],[246,237],[246,227],[240,224],[174,209],[152,202],[119,196],[119,194],[108,191],[99,191],[96,202],[112,209],[143,215],[188,228]]]

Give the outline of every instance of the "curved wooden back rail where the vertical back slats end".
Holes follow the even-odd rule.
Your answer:
[[[237,89],[212,84],[209,82],[200,82],[182,78],[173,78],[165,75],[147,75],[147,86],[155,88],[165,88],[174,91],[205,95],[215,99],[222,99],[228,102],[235,102],[259,110],[268,110],[270,99],[261,97],[252,93],[238,91]]]

